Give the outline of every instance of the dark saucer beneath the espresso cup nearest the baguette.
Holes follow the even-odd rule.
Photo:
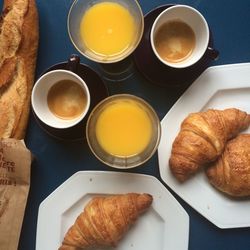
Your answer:
[[[77,75],[79,75],[87,84],[90,92],[90,108],[87,115],[84,119],[78,123],[77,125],[66,128],[66,129],[57,129],[48,126],[47,124],[43,123],[35,114],[32,112],[38,125],[50,136],[55,137],[60,140],[66,141],[75,141],[75,140],[82,140],[86,137],[85,135],[85,127],[87,123],[88,116],[92,109],[99,103],[101,100],[105,99],[109,96],[107,87],[101,77],[89,66],[80,63],[80,58],[77,55],[72,55],[68,62],[62,62],[51,66],[45,72],[45,74],[51,70],[56,69],[64,69],[64,70],[71,70]]]

